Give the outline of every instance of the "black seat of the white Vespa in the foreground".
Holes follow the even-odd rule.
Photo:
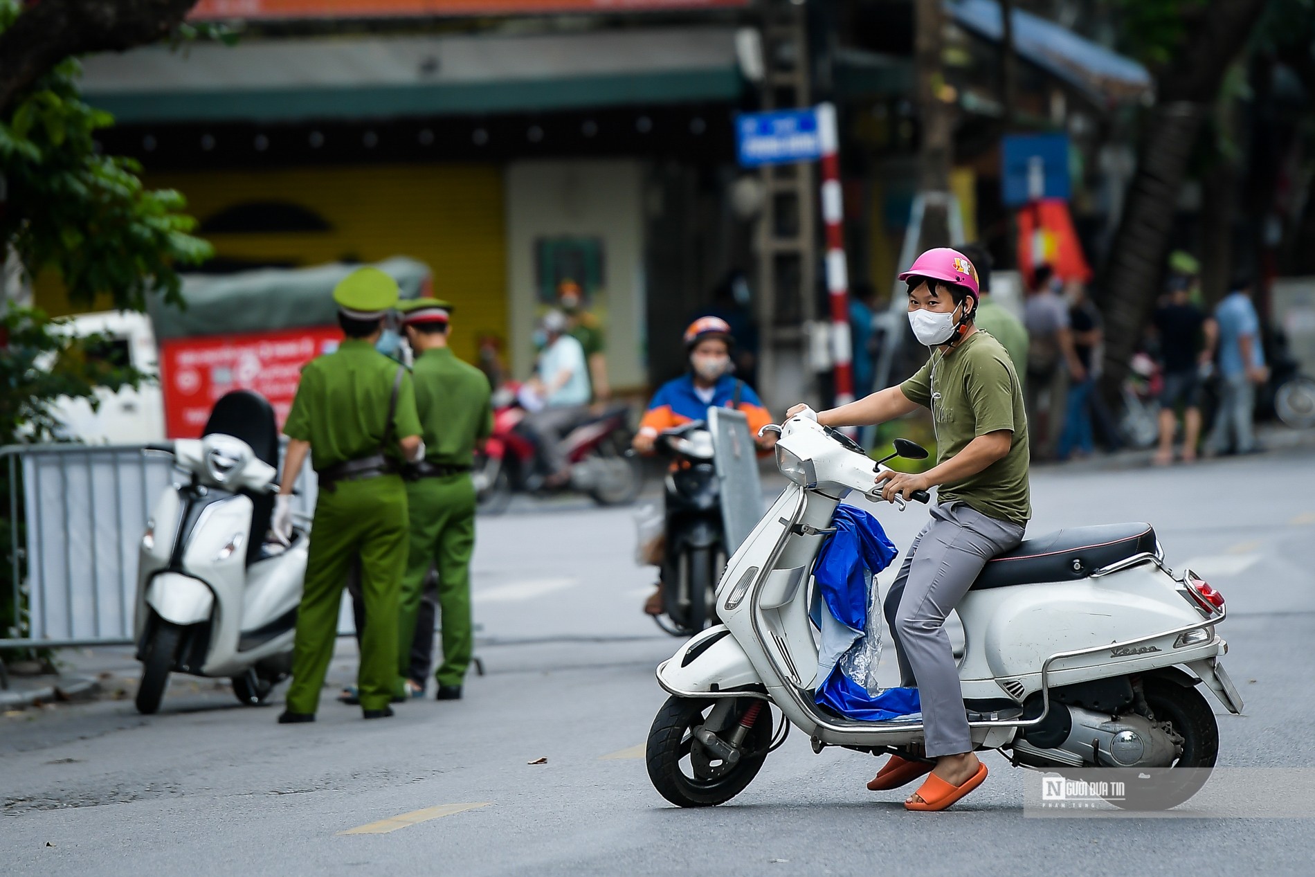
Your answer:
[[[972,590],[1078,581],[1111,563],[1155,551],[1156,536],[1149,523],[1103,523],[1056,530],[1036,539],[1024,539],[1013,551],[989,560]]]

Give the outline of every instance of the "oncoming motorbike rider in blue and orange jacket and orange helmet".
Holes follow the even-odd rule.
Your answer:
[[[772,415],[763,406],[753,388],[734,376],[731,350],[735,338],[730,323],[721,317],[700,317],[685,330],[685,351],[689,355],[689,371],[667,381],[648,402],[648,410],[639,421],[639,431],[634,438],[634,448],[639,454],[652,454],[658,434],[690,421],[707,419],[710,408],[734,408],[744,412],[751,435],[772,422]],[[759,447],[771,448],[775,435],[756,439]],[[661,582],[648,597],[644,611],[650,615],[661,614]]]

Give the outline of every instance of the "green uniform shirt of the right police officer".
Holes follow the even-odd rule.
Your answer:
[[[447,347],[417,356],[412,377],[425,459],[435,465],[471,465],[476,442],[493,433],[488,377]]]

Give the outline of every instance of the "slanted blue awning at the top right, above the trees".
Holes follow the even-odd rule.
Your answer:
[[[945,9],[960,26],[985,39],[1003,38],[1003,16],[995,0],[957,0]],[[1022,9],[1014,11],[1014,50],[1102,105],[1139,99],[1152,85],[1147,68],[1131,58]]]

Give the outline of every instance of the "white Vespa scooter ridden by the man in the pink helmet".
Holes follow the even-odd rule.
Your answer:
[[[874,475],[884,467],[806,415],[764,430],[780,433],[777,465],[793,484],[727,564],[715,604],[725,623],[658,668],[671,698],[648,735],[648,776],[685,807],[739,794],[792,724],[814,752],[839,746],[915,759],[923,736],[920,721],[857,722],[814,702],[823,680],[809,619],[813,564],[840,500],[851,490],[880,498]],[[926,456],[911,442],[899,454]],[[1218,660],[1227,652],[1215,632],[1223,597],[1191,571],[1174,576],[1162,557],[1149,525],[1126,523],[1051,533],[986,564],[959,605],[959,673],[977,748],[1047,770],[1136,768],[1126,773],[1145,782],[1156,774],[1155,789],[1128,788],[1111,801],[1122,806],[1173,806],[1195,794],[1219,748],[1198,686],[1231,713],[1243,702]],[[767,705],[784,715],[775,738]]]

